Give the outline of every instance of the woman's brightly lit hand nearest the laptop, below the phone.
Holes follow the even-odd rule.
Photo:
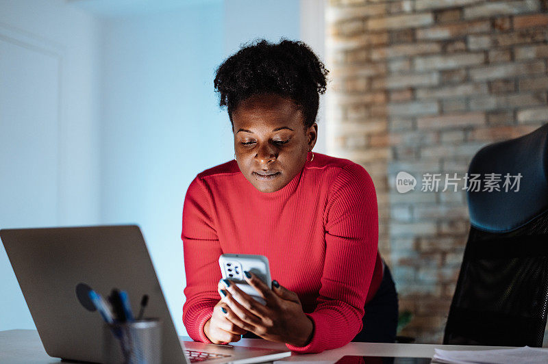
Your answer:
[[[203,326],[203,333],[206,334],[212,343],[233,343],[239,341],[247,333],[247,330],[240,328],[227,319],[226,313],[229,310],[227,304],[219,301],[213,308],[213,315]]]

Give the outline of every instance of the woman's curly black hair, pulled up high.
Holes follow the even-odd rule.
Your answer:
[[[304,42],[256,40],[245,44],[216,70],[214,86],[219,106],[232,112],[241,101],[257,94],[277,94],[301,107],[304,126],[312,126],[325,92],[329,70]]]

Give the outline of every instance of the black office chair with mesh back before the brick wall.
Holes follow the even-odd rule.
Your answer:
[[[501,187],[506,173],[522,177],[518,192],[483,185],[467,192],[470,234],[443,343],[540,347],[548,306],[548,124],[482,148],[472,173],[499,173]]]

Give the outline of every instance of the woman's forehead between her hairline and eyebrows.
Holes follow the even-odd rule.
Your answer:
[[[300,107],[291,99],[275,94],[251,96],[232,112],[235,129],[242,127],[298,127],[304,125]]]

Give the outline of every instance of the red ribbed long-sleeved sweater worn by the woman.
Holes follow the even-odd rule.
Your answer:
[[[182,239],[183,322],[196,341],[211,342],[203,326],[221,299],[223,253],[266,256],[272,278],[298,294],[314,333],[307,346],[287,345],[295,352],[349,343],[382,279],[373,181],[362,166],[320,153],[271,193],[253,187],[235,160],[201,172],[186,192]]]

